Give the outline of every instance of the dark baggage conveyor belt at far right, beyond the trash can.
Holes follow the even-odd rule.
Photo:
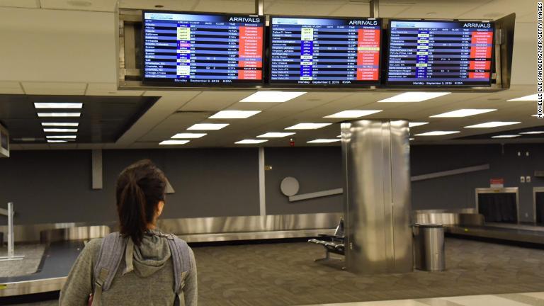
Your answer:
[[[446,227],[446,232],[467,237],[544,245],[543,228],[527,225],[450,226]]]

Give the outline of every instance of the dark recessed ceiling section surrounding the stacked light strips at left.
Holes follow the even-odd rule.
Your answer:
[[[47,144],[42,123],[78,123],[77,132],[50,132],[50,136],[76,135],[79,143],[113,143],[145,113],[155,97],[147,96],[44,96],[0,95],[0,122],[10,131],[11,144]],[[34,103],[83,103],[81,109],[36,109]],[[38,112],[81,112],[79,118],[38,118]],[[72,141],[70,141],[72,142]]]

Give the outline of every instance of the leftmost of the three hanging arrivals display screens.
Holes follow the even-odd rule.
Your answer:
[[[143,14],[144,83],[262,84],[263,16]]]

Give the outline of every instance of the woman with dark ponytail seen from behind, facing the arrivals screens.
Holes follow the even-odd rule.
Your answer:
[[[149,160],[121,172],[115,193],[120,233],[86,244],[62,288],[60,305],[197,305],[193,251],[176,237],[176,243],[186,249],[171,252],[174,236],[162,234],[156,226],[165,191],[166,177]],[[117,253],[109,247],[112,239],[119,242],[115,244]],[[113,271],[110,283],[103,284],[108,269],[101,265],[113,258],[118,258],[118,263],[109,269]],[[179,259],[181,265],[176,264]],[[180,271],[183,264],[186,268],[176,273],[176,279],[174,271]],[[106,274],[97,272],[97,265],[98,271],[106,270]]]

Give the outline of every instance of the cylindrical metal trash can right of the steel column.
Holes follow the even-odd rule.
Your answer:
[[[418,270],[446,269],[443,225],[414,225],[414,261]]]

